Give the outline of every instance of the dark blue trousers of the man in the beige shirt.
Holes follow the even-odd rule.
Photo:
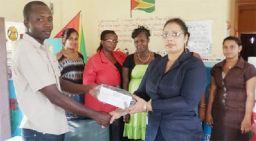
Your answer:
[[[56,135],[56,134],[45,134],[43,132],[37,132],[36,130],[22,128],[21,136],[25,141],[32,140],[64,140],[64,134]]]

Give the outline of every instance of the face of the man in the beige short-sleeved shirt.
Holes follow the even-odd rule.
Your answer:
[[[51,36],[53,30],[53,15],[49,7],[34,5],[29,15],[29,21],[24,21],[28,34],[42,43]]]

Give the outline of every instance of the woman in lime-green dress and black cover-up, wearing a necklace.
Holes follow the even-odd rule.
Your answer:
[[[160,57],[148,50],[150,42],[150,30],[144,26],[138,26],[132,32],[136,52],[127,56],[122,66],[123,89],[134,93],[140,85],[148,64]],[[147,113],[136,113],[124,117],[124,136],[134,140],[145,140]]]

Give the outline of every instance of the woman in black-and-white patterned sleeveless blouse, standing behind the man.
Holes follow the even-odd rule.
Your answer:
[[[59,62],[59,70],[64,80],[72,83],[82,84],[82,76],[84,72],[84,58],[82,54],[75,49],[78,46],[78,32],[74,28],[66,28],[63,31],[63,50],[57,53],[56,58]],[[72,99],[84,104],[84,95],[73,95],[67,93]],[[83,140],[84,126],[86,117],[78,117],[69,111],[66,111],[69,132],[65,134],[65,140]],[[79,126],[74,126],[79,125]]]

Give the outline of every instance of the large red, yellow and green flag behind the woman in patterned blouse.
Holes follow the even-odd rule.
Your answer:
[[[84,32],[82,30],[82,12],[80,11],[79,13],[74,16],[71,21],[64,26],[64,28],[55,36],[55,38],[62,38],[63,36],[63,31],[66,28],[74,28],[78,32],[78,52],[84,56],[84,63],[86,64],[87,62],[87,55],[86,55],[86,50],[85,50],[85,44],[84,44]]]

